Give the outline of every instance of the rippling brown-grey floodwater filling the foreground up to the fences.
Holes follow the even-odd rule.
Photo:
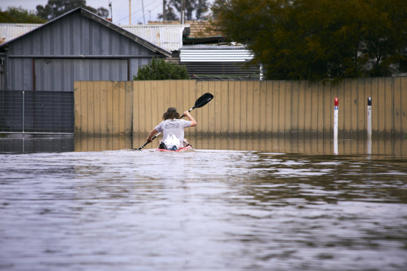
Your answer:
[[[0,270],[407,269],[406,139],[47,140],[0,139]]]

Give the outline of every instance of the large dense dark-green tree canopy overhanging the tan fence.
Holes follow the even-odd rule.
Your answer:
[[[212,10],[267,79],[389,76],[407,55],[405,0],[226,0]]]

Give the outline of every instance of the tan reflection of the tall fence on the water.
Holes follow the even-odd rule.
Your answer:
[[[304,137],[277,138],[189,138],[190,144],[204,150],[259,150],[273,153],[335,154],[331,139],[310,139]],[[145,137],[75,137],[75,151],[100,151],[139,148],[146,142]],[[157,148],[157,142],[145,149]],[[372,154],[406,157],[407,139],[338,140],[339,155]]]

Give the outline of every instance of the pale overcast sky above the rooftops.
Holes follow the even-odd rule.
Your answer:
[[[129,0],[110,0],[112,1],[113,22],[115,24],[129,24]],[[22,6],[26,10],[36,11],[36,6],[45,6],[48,0],[0,0],[1,10],[6,10],[8,6]],[[144,3],[144,18],[143,8]],[[86,0],[86,6],[92,8],[104,7],[109,10],[109,0]],[[132,24],[144,20],[158,21],[158,13],[162,13],[162,0],[131,0]]]

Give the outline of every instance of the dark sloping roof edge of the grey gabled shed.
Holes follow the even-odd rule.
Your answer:
[[[171,57],[171,52],[167,51],[166,49],[162,49],[161,47],[159,47],[158,45],[153,44],[152,42],[145,40],[144,38],[141,38],[139,36],[136,36],[134,33],[131,33],[123,28],[121,28],[120,26],[117,26],[116,24],[113,24],[112,22],[109,22],[108,20],[105,20],[102,17],[99,17],[98,15],[95,15],[95,13],[91,13],[89,10],[86,10],[85,8],[79,7],[79,8],[75,8],[73,10],[70,10],[68,13],[65,13],[59,17],[56,17],[54,20],[51,20],[45,24],[42,24],[41,26],[38,26],[34,29],[32,29],[31,31],[28,31],[24,34],[22,34],[22,36],[26,36],[29,33],[33,32],[33,31],[37,31],[38,29],[46,26],[47,24],[52,24],[52,22],[56,21],[56,20],[60,20],[62,17],[65,17],[71,13],[80,13],[82,16],[84,17],[88,17],[89,19],[98,22],[104,26],[107,26],[109,29],[112,29],[113,31],[116,31],[118,33],[121,33],[123,36],[126,36],[127,38],[130,38],[130,40],[134,40],[135,42],[139,43],[140,45],[143,45],[144,47],[150,49],[153,52],[158,52],[160,54],[163,54],[164,56],[167,57]],[[16,38],[13,38],[12,40],[8,40],[5,43],[0,45],[1,47],[6,47],[8,45],[8,43],[13,42],[13,40],[17,39],[17,38],[21,38],[22,36],[17,36]]]

